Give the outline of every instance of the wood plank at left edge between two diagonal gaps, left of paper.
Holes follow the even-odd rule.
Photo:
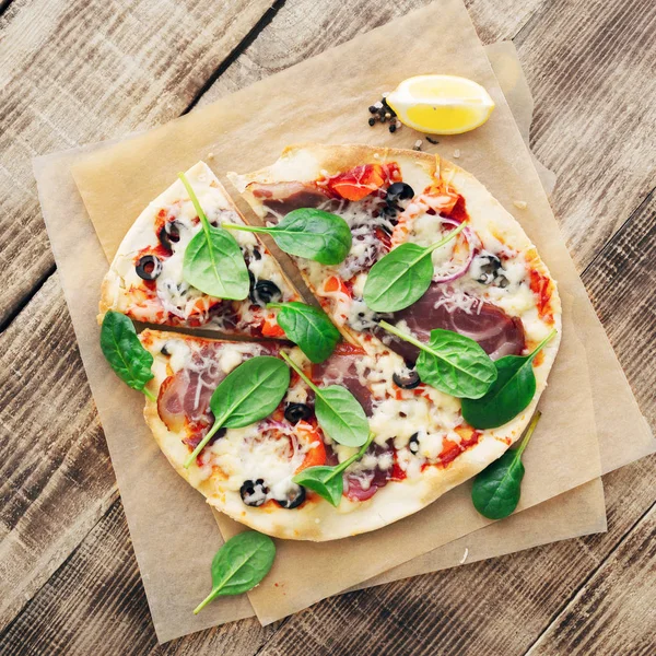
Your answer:
[[[57,276],[0,335],[0,628],[117,496]]]

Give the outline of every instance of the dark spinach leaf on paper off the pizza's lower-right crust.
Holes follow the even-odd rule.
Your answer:
[[[536,412],[526,436],[519,448],[507,450],[499,460],[495,460],[473,480],[471,501],[473,507],[488,519],[503,519],[511,515],[519,503],[522,479],[525,469],[522,454],[540,420],[540,412]]]

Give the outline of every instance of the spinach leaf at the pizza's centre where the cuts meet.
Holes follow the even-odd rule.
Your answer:
[[[295,301],[269,303],[267,307],[278,308],[278,325],[312,362],[324,362],[335,350],[340,333],[324,311]]]

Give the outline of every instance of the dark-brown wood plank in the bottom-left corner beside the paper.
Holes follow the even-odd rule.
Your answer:
[[[2,654],[141,654],[154,645],[120,501],[0,637]]]

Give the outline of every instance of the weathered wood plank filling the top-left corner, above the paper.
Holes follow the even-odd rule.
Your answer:
[[[181,114],[269,0],[15,0],[0,17],[0,326],[52,270],[31,159]]]

